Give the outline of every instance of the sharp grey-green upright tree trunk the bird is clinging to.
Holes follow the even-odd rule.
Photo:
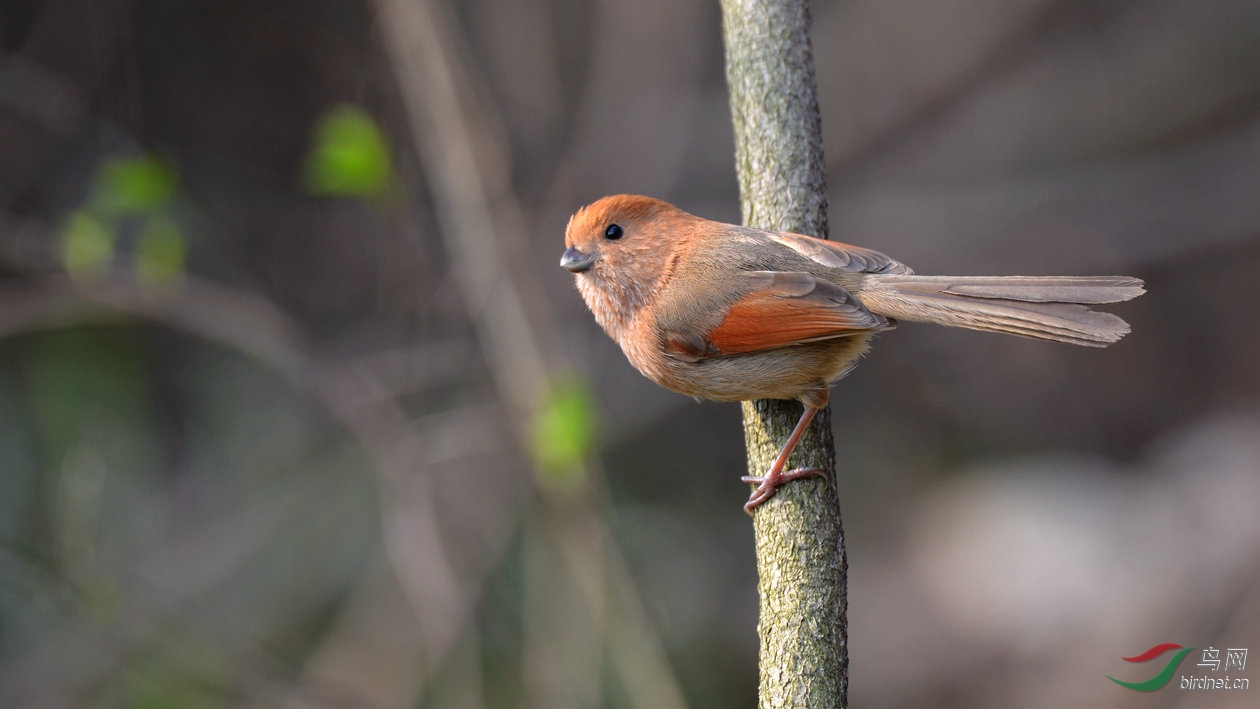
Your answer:
[[[822,118],[806,0],[722,0],[726,74],[743,223],[827,237]],[[750,475],[762,475],[800,418],[796,402],[745,402]],[[779,489],[755,515],[761,597],[760,705],[848,704],[847,563],[830,412],[789,461],[828,480]]]

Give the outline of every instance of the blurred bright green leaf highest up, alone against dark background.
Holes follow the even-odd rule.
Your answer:
[[[389,144],[357,106],[338,106],[315,127],[306,159],[306,189],[330,196],[379,196],[389,189]]]

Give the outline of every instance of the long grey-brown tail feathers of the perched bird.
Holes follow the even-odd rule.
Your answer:
[[[872,275],[861,300],[873,312],[916,322],[988,330],[1105,348],[1129,324],[1085,305],[1144,293],[1128,276],[912,276]]]

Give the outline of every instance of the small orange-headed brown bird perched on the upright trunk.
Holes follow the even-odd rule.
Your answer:
[[[717,402],[799,399],[796,428],[745,509],[784,471],[829,387],[876,332],[898,320],[939,322],[1101,348],[1129,332],[1081,303],[1142,295],[1128,276],[915,276],[867,248],[693,217],[638,195],[606,196],[568,220],[559,264],[595,320],[645,377]]]

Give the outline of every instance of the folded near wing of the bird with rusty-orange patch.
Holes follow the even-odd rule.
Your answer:
[[[707,331],[665,329],[667,356],[699,361],[815,340],[890,330],[888,319],[862,306],[844,288],[809,273],[750,271],[743,295]]]

